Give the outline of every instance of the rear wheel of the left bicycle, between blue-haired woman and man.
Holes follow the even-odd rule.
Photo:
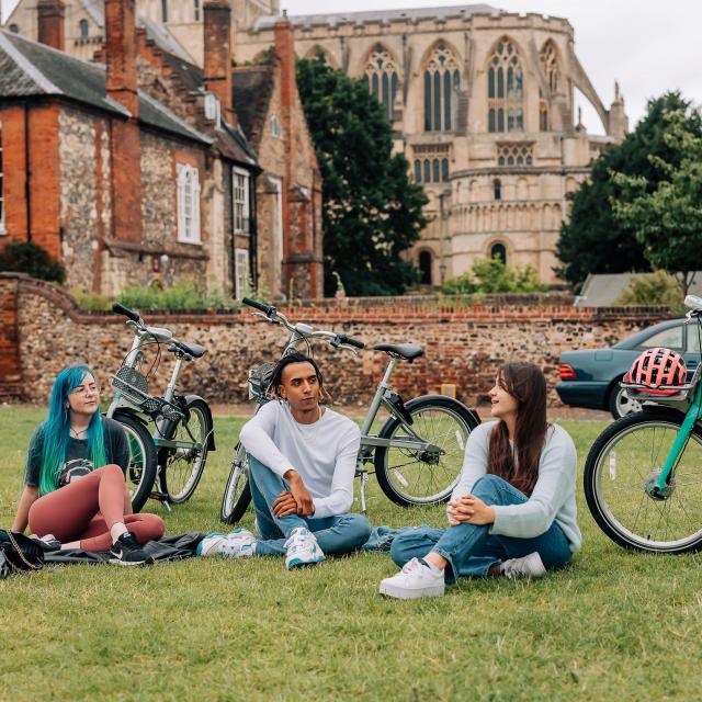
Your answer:
[[[178,422],[172,439],[192,441],[190,435],[192,433],[197,443],[202,444],[202,450],[161,449],[159,451],[161,489],[174,505],[186,502],[200,484],[207,461],[207,437],[212,431],[207,403],[197,398],[188,400],[186,406],[189,418]]]

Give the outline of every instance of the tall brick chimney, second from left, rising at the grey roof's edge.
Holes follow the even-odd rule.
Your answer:
[[[135,0],[105,0],[107,95],[138,115]]]

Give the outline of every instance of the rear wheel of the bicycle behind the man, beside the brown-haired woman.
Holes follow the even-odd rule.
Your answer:
[[[478,420],[465,405],[442,395],[416,397],[405,407],[412,417],[412,430],[439,445],[444,454],[421,456],[411,449],[380,446],[374,458],[377,482],[383,492],[403,507],[444,502],[458,480],[465,444]],[[403,422],[393,416],[383,424],[378,437],[392,440],[403,427]],[[408,435],[406,431],[404,435]],[[404,468],[401,473],[400,467]],[[428,489],[419,494],[421,484]]]

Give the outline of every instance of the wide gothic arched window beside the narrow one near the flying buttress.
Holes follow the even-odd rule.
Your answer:
[[[524,131],[524,73],[512,42],[503,36],[487,71],[488,132]]]

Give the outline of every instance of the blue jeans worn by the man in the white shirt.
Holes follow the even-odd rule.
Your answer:
[[[346,554],[360,548],[371,535],[371,524],[363,514],[338,514],[313,519],[299,514],[273,517],[273,502],[287,480],[249,454],[249,486],[256,508],[256,522],[261,539],[256,542],[257,555],[285,555],[285,541],[293,529],[305,526],[314,532],[319,547],[326,554]]]

